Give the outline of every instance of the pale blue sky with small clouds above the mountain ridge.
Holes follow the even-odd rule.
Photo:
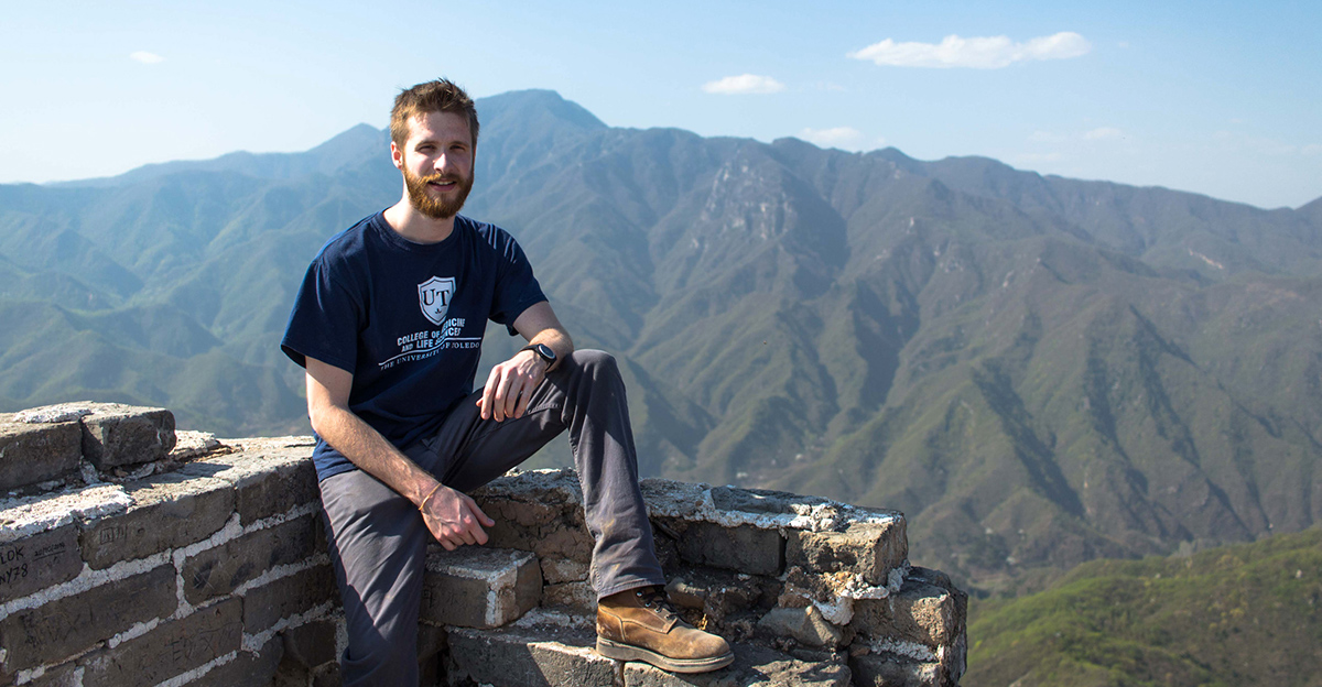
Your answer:
[[[617,127],[981,155],[1263,207],[1322,196],[1307,3],[463,5],[7,3],[0,182],[301,151],[446,75],[551,89]]]

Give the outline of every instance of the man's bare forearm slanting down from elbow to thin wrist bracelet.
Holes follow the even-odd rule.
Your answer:
[[[436,478],[405,456],[386,437],[348,408],[329,406],[319,410],[313,428],[328,444],[361,470],[422,506],[436,488]]]

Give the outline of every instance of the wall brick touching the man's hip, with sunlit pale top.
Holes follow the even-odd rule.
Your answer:
[[[305,448],[275,448],[212,456],[189,462],[181,474],[233,485],[239,524],[245,527],[320,499],[317,474]]]

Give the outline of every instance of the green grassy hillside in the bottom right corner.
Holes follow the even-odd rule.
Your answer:
[[[1322,684],[1322,530],[1096,560],[969,616],[977,687]]]

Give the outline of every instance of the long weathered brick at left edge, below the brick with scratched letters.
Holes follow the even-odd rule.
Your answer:
[[[5,671],[63,661],[135,622],[169,616],[176,606],[175,568],[161,565],[20,610],[0,621]]]

